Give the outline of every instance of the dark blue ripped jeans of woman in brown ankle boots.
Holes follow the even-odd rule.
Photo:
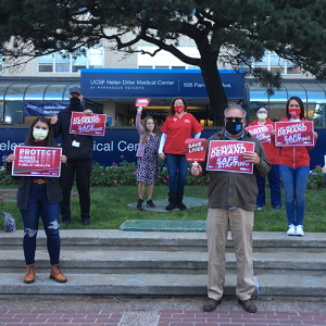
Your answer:
[[[24,222],[23,249],[26,265],[35,263],[36,236],[38,231],[39,215],[42,218],[47,235],[47,246],[51,265],[59,264],[60,236],[59,236],[60,203],[49,204],[47,185],[30,184],[28,204],[21,210]]]

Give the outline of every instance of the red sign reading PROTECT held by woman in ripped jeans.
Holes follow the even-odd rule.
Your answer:
[[[60,177],[61,148],[16,146],[12,163],[13,176]]]

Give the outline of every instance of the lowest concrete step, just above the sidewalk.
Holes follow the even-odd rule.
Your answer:
[[[77,296],[205,296],[206,275],[179,274],[68,274],[67,283],[49,279],[49,273],[37,273],[34,284],[23,283],[24,273],[0,273],[0,299],[66,298]],[[326,301],[326,276],[302,274],[255,275],[259,299],[296,299]],[[236,275],[226,275],[224,294],[236,293]]]

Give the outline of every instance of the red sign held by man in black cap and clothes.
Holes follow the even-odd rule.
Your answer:
[[[71,120],[71,134],[104,136],[106,114],[89,114],[73,112]]]

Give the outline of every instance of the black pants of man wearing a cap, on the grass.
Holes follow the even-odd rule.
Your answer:
[[[63,200],[60,203],[62,221],[71,221],[71,191],[76,173],[76,185],[79,195],[82,221],[89,218],[90,211],[90,173],[91,159],[67,161],[66,168],[62,168],[60,186]]]

